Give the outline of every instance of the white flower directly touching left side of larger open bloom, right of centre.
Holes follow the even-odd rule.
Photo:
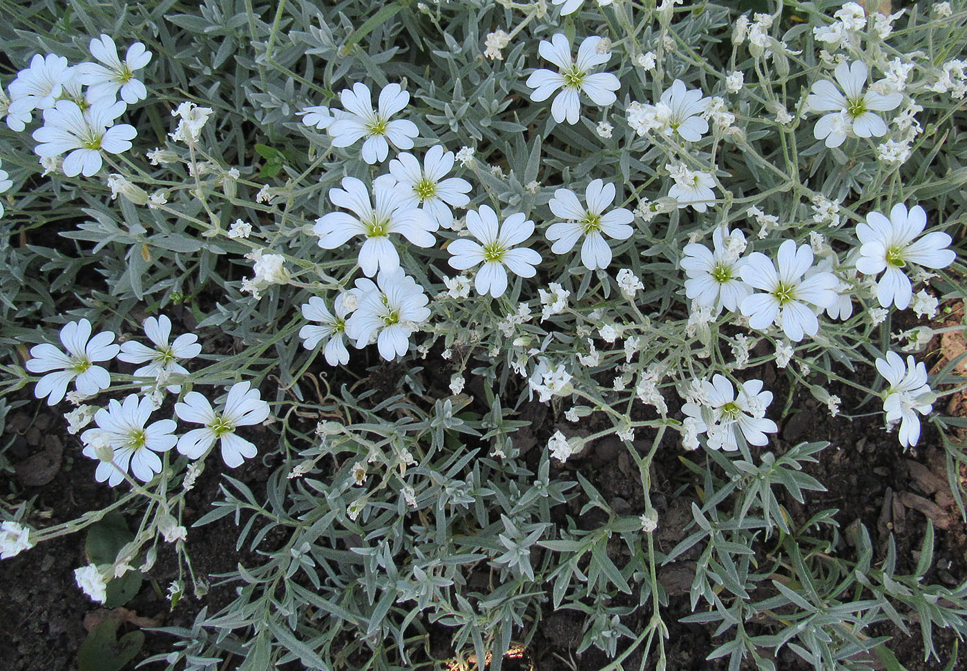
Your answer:
[[[746,259],[739,255],[746,248],[746,236],[741,230],[728,232],[727,226],[718,226],[712,234],[713,250],[698,243],[685,246],[682,268],[689,279],[685,280],[685,293],[699,305],[713,307],[718,315],[722,307],[735,311],[752,293],[752,287],[742,280]]]

